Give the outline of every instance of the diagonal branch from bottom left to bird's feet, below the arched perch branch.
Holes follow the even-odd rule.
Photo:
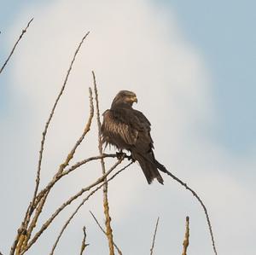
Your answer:
[[[42,235],[44,233],[44,230],[47,229],[49,227],[49,224],[52,223],[52,221],[55,219],[55,217],[58,216],[58,214],[64,209],[66,208],[66,206],[70,205],[73,200],[76,200],[77,198],[79,198],[79,196],[81,196],[82,194],[84,194],[84,192],[89,191],[90,188],[95,187],[96,185],[104,182],[105,178],[108,177],[108,175],[116,168],[117,165],[119,165],[122,160],[124,158],[119,159],[107,172],[105,175],[102,175],[102,177],[98,178],[96,180],[96,182],[90,184],[89,186],[87,186],[86,188],[82,188],[77,194],[73,195],[71,198],[69,198],[66,202],[64,202],[52,215],[51,217],[49,217],[49,219],[42,225],[41,229],[38,230],[38,233],[36,233],[33,238],[32,241],[30,241],[26,248],[23,250],[23,252],[21,252],[20,254],[24,254],[24,252],[26,252],[39,238],[40,235]]]

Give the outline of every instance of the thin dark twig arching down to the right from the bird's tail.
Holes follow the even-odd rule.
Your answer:
[[[211,240],[212,240],[212,248],[213,248],[213,252],[215,253],[215,255],[218,255],[217,253],[217,249],[216,249],[216,246],[215,246],[215,241],[214,241],[214,237],[213,237],[213,233],[212,233],[212,224],[211,224],[211,221],[210,221],[210,217],[209,217],[209,214],[207,212],[207,207],[204,205],[204,203],[202,202],[200,196],[198,194],[195,193],[195,191],[192,189],[192,188],[189,188],[189,186],[187,185],[187,183],[183,183],[183,181],[181,181],[179,178],[177,178],[176,176],[174,176],[170,171],[168,171],[166,168],[165,168],[165,172],[168,176],[172,177],[172,179],[174,179],[175,181],[177,181],[177,183],[180,183],[183,187],[185,187],[186,189],[188,189],[196,198],[196,200],[198,200],[201,204],[201,206],[203,207],[203,210],[205,212],[205,215],[207,217],[207,224],[208,224],[208,229],[210,231],[210,235],[211,235]]]

